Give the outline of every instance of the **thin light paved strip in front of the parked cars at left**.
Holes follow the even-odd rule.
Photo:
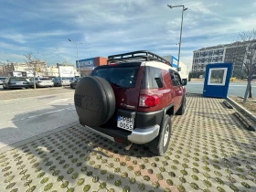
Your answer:
[[[44,95],[52,95],[59,93],[66,93],[74,91],[69,88],[50,88],[50,89],[37,89],[37,90],[16,90],[16,91],[0,91],[0,100],[12,100],[27,97],[37,97]]]

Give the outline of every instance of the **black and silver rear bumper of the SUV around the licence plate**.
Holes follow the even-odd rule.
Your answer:
[[[99,133],[104,137],[111,138],[112,141],[118,141],[123,144],[147,144],[158,136],[160,124],[163,119],[163,110],[156,112],[133,112],[123,109],[117,110],[108,123],[101,127],[89,127],[92,132]],[[133,118],[133,131],[117,127],[118,116]],[[86,123],[80,122],[86,126]]]

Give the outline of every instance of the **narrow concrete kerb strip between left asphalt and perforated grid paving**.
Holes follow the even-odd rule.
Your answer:
[[[50,130],[48,132],[40,133],[40,134],[37,134],[35,136],[29,137],[27,139],[24,139],[22,141],[16,142],[14,144],[9,144],[7,146],[1,147],[0,148],[0,154],[4,153],[5,151],[8,151],[8,150],[15,149],[16,147],[18,147],[20,145],[31,143],[31,142],[33,142],[33,141],[35,141],[37,139],[40,139],[40,138],[45,137],[45,136],[48,136],[49,134],[53,134],[53,133],[57,133],[59,131],[65,130],[65,129],[67,129],[69,127],[72,127],[72,126],[75,126],[77,124],[80,124],[80,123],[78,121],[73,122],[73,123],[69,123],[69,124],[66,124],[64,126],[58,127],[56,129]]]

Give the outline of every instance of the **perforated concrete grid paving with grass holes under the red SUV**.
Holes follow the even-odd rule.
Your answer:
[[[165,156],[75,125],[0,155],[0,191],[256,191],[256,133],[222,100],[187,96]]]

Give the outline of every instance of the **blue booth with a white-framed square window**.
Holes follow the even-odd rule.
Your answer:
[[[204,97],[227,99],[232,63],[208,64],[204,83]]]

